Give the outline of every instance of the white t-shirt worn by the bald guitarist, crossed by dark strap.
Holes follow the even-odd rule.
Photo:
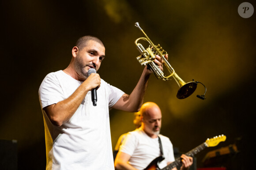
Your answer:
[[[167,162],[175,160],[173,154],[173,144],[168,137],[161,134],[162,148],[165,159],[159,164],[160,168],[167,166]],[[161,156],[158,138],[149,137],[142,128],[129,132],[125,137],[119,152],[124,152],[131,156],[129,164],[136,169],[145,169],[155,158]]]

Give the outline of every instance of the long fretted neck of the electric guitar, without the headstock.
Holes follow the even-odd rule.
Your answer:
[[[202,143],[201,145],[197,146],[196,148],[193,148],[191,151],[185,153],[186,156],[194,157],[198,152],[202,151],[204,148],[207,148],[206,143]],[[161,170],[171,170],[179,165],[181,165],[181,157],[175,159],[173,163],[170,163],[168,166],[164,167]]]

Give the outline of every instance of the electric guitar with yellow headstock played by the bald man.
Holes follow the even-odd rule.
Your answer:
[[[202,151],[204,148],[217,146],[219,144],[219,142],[221,142],[221,141],[226,141],[226,136],[223,135],[223,134],[219,135],[219,136],[216,136],[216,137],[213,137],[211,139],[207,139],[201,145],[199,145],[196,148],[193,148],[191,151],[185,153],[185,155],[193,157],[198,152]],[[177,159],[175,159],[175,161],[173,163],[170,163],[166,167],[160,169],[158,167],[158,163],[161,162],[164,159],[165,158],[162,157],[162,156],[157,157],[144,170],[171,170],[174,167],[177,167],[177,166],[182,164],[181,158],[177,158]]]

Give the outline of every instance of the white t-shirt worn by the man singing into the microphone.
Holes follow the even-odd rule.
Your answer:
[[[39,88],[41,108],[68,98],[81,85],[63,71],[49,73]],[[90,91],[75,114],[60,127],[43,110],[46,170],[114,170],[109,126],[109,108],[124,94],[101,80],[97,106]]]

